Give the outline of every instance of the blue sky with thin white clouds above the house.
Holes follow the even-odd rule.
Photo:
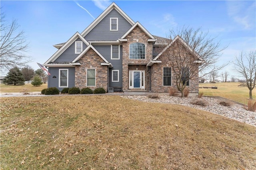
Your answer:
[[[6,21],[16,19],[25,32],[29,43],[26,55],[34,59],[28,65],[36,70],[40,68],[36,63],[45,63],[58,50],[52,45],[82,33],[112,2],[152,35],[166,38],[170,30],[183,26],[208,32],[222,47],[228,46],[219,65],[233,61],[241,51],[256,50],[255,0],[1,0],[0,6]],[[221,71],[230,72],[231,78],[236,76],[233,67],[230,64]]]

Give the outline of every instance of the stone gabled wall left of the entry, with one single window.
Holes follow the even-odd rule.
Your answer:
[[[79,60],[81,65],[75,66],[75,86],[80,89],[86,87],[86,69],[96,69],[95,87],[88,86],[90,89],[103,87],[108,90],[108,66],[100,65],[105,61],[93,50],[89,49],[87,53]]]

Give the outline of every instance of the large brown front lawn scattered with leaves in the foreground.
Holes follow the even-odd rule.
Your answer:
[[[256,127],[179,105],[6,97],[0,128],[2,169],[256,169]]]

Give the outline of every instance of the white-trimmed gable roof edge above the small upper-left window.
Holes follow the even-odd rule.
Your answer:
[[[76,41],[76,39],[80,38],[86,45],[89,45],[89,43],[81,36],[81,34],[79,34],[78,32],[76,32],[76,34],[74,34],[74,36],[72,36],[58,51],[56,51],[56,53],[54,53],[54,55],[52,55],[52,57],[50,57],[50,59],[48,59],[44,64],[48,64],[52,61],[54,61],[55,59],[57,59],[60,54],[62,54],[72,43],[74,43]]]

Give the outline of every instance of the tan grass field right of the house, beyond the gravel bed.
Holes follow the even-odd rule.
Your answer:
[[[199,89],[205,96],[221,96],[233,101],[247,104],[249,99],[249,89],[247,87],[238,87],[238,82],[228,83],[200,83],[199,87],[218,87],[218,89]],[[256,99],[256,89],[252,91],[253,99]]]

